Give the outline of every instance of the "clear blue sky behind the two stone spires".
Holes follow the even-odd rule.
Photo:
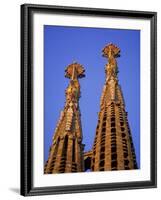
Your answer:
[[[107,28],[44,26],[45,161],[65,103],[69,79],[64,77],[64,70],[73,61],[82,64],[86,70],[86,77],[80,79],[80,110],[85,151],[91,149],[107,63],[101,51],[111,42],[121,49],[121,57],[117,59],[118,77],[140,166],[140,31]]]

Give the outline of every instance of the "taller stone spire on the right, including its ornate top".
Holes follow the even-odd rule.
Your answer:
[[[108,63],[105,66],[106,78],[92,148],[91,170],[137,169],[125,102],[117,77],[116,58],[120,56],[120,49],[108,44],[102,52]]]

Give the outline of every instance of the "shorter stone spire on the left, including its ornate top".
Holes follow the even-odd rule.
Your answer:
[[[67,66],[65,77],[70,83],[65,91],[66,102],[54,131],[46,174],[84,171],[81,114],[79,110],[80,84],[84,77],[82,65],[74,62]]]

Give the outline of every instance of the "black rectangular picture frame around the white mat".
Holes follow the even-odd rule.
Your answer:
[[[59,13],[72,15],[110,16],[118,18],[149,19],[151,29],[151,157],[150,181],[84,184],[71,186],[33,187],[33,14]],[[49,195],[77,192],[157,187],[157,13],[145,11],[110,10],[97,8],[63,7],[49,5],[21,5],[21,195]]]

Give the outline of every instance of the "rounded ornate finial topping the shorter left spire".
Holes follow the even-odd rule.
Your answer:
[[[70,78],[71,80],[75,80],[78,78],[85,77],[85,69],[82,65],[78,64],[77,62],[74,62],[67,66],[65,69],[65,77]]]

